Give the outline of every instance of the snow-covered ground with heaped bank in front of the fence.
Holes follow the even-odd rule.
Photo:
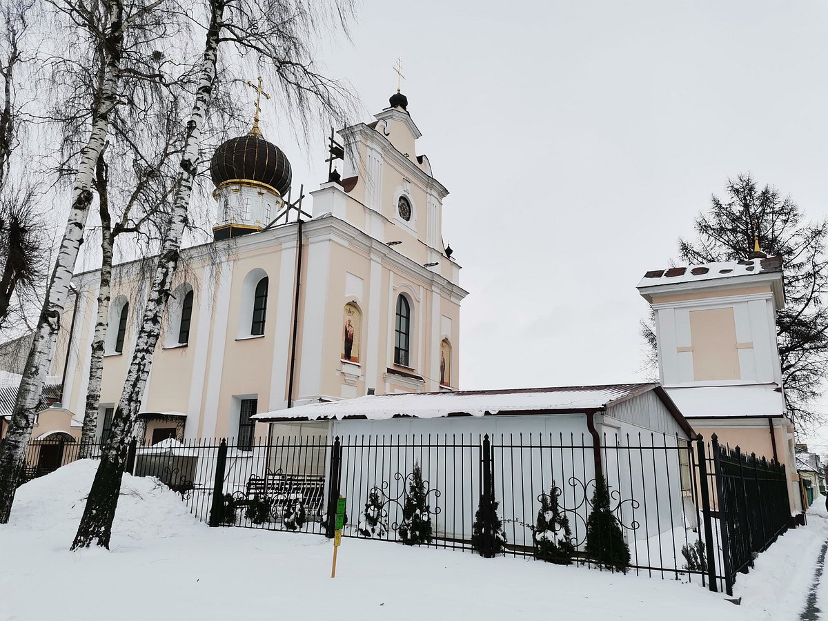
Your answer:
[[[0,620],[797,619],[828,537],[824,502],[740,575],[700,585],[315,535],[209,528],[155,479],[124,476],[112,550],[68,551],[95,462],[22,486],[0,526]],[[828,586],[825,609],[828,610]]]

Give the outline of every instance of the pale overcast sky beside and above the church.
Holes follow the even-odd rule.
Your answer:
[[[728,176],[828,216],[826,31],[826,2],[364,2],[324,60],[371,120],[402,57],[469,291],[460,387],[644,379],[635,286]],[[321,141],[282,146],[323,181]]]

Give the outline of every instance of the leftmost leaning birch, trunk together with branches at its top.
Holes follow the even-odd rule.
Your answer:
[[[17,473],[24,463],[37,404],[55,352],[60,315],[93,200],[91,186],[95,166],[106,143],[109,119],[119,103],[118,85],[125,53],[133,57],[143,53],[141,43],[146,41],[146,36],[142,34],[157,29],[157,23],[152,23],[152,12],[161,5],[161,0],[52,0],[50,5],[57,17],[71,25],[72,35],[82,35],[88,43],[90,53],[86,60],[92,60],[99,67],[99,75],[94,98],[89,101],[89,129],[84,132],[87,140],[78,156],[65,231],[17,391],[12,421],[0,447],[0,523],[8,522],[11,513]],[[140,61],[136,64],[140,65]]]

